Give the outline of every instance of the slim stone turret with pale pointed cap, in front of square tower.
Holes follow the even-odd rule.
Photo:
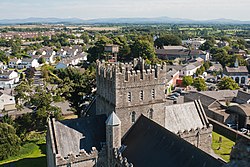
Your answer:
[[[121,121],[114,112],[106,120],[106,143],[108,166],[111,166],[114,149],[121,147]]]

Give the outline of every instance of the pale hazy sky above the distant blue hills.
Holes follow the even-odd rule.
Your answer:
[[[0,19],[167,16],[250,21],[249,10],[250,0],[0,0]]]

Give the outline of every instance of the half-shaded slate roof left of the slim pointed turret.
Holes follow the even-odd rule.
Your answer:
[[[79,154],[80,150],[89,153],[92,147],[101,149],[106,141],[105,115],[56,121],[54,135],[58,154],[66,157],[69,153]]]

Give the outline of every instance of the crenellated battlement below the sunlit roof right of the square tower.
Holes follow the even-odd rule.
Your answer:
[[[177,135],[180,136],[181,138],[185,137],[191,137],[195,136],[197,134],[206,134],[206,133],[211,133],[213,130],[213,126],[209,124],[208,127],[202,127],[202,128],[196,128],[196,129],[190,129],[190,130],[185,130],[185,131],[178,131]]]

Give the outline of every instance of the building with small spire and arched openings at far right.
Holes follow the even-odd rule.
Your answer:
[[[238,59],[234,63],[234,67],[225,67],[223,76],[231,77],[236,83],[241,85],[248,84],[248,69],[246,66],[239,66]]]

